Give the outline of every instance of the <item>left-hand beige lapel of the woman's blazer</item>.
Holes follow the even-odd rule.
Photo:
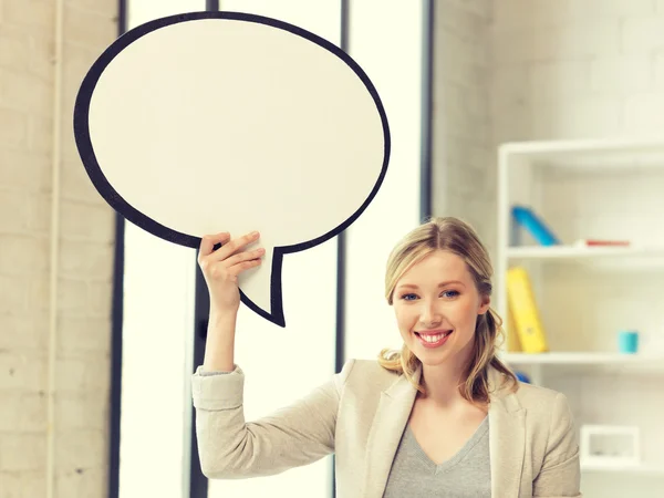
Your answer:
[[[421,371],[415,373],[419,381]],[[363,498],[381,498],[385,491],[392,461],[408,422],[417,390],[405,375],[381,393],[366,443]]]

